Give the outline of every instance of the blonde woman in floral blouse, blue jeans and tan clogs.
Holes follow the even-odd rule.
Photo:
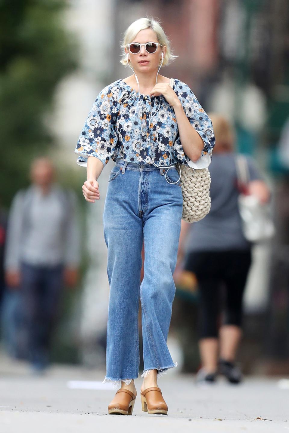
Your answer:
[[[97,179],[102,169],[110,158],[115,162],[103,214],[110,284],[104,382],[112,381],[120,389],[108,412],[132,414],[140,362],[140,299],[142,408],[150,414],[167,414],[157,378],[177,366],[166,344],[182,217],[182,187],[175,165],[190,159],[196,166],[208,166],[214,135],[210,119],[187,84],[158,76],[160,67],[175,56],[157,21],[133,22],[122,48],[121,63],[133,75],[101,90],[75,153],[78,164],[87,166],[82,189],[85,200],[92,203],[100,198]]]

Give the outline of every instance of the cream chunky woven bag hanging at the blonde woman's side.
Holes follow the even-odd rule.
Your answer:
[[[169,84],[173,87],[173,78]],[[182,219],[187,223],[195,223],[202,220],[211,209],[210,172],[208,167],[195,169],[186,164],[179,164],[179,167],[183,196]]]

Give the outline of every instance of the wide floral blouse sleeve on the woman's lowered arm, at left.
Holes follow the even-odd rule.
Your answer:
[[[75,148],[77,164],[87,166],[87,158],[95,156],[105,166],[114,154],[117,144],[115,123],[119,111],[119,90],[112,83],[104,87],[98,94],[88,113],[84,127]]]

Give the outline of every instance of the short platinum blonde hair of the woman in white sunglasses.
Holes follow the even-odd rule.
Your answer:
[[[146,18],[139,18],[133,23],[130,24],[130,26],[127,28],[127,30],[124,32],[123,40],[120,43],[120,48],[123,50],[126,48],[127,44],[133,41],[133,39],[136,37],[138,32],[140,30],[145,29],[152,29],[156,33],[156,38],[161,45],[166,45],[166,55],[164,56],[162,65],[168,65],[171,60],[173,60],[176,57],[179,57],[177,55],[173,55],[171,51],[171,43],[169,39],[166,36],[166,33],[164,32],[164,29],[160,25],[156,19],[153,19],[152,17],[147,16]],[[127,55],[124,52],[122,54],[122,58],[120,60],[120,63],[122,65],[127,66]]]

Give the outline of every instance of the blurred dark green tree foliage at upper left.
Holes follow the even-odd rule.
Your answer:
[[[28,184],[31,158],[55,145],[45,114],[55,87],[76,68],[64,0],[0,0],[0,201]],[[5,188],[3,187],[5,184]]]

